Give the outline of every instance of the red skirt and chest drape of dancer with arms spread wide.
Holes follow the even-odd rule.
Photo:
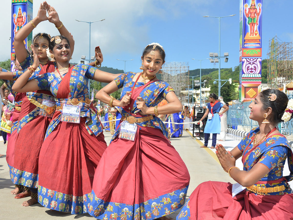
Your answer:
[[[68,98],[69,78],[62,79],[57,98]],[[56,111],[52,120],[61,114]],[[91,192],[93,176],[107,144],[104,135],[90,135],[80,123],[59,122],[45,139],[39,158],[39,187],[63,194],[83,196]],[[81,206],[82,207],[82,206]]]

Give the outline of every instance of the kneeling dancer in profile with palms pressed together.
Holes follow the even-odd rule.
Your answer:
[[[277,124],[293,118],[293,100],[277,89],[260,92],[249,108],[257,121],[233,149],[217,144],[216,154],[223,169],[236,181],[203,182],[191,194],[177,219],[293,219],[293,153]],[[235,167],[242,156],[243,171]],[[289,176],[283,175],[286,158]]]

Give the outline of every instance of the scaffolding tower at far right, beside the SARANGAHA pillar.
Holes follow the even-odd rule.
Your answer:
[[[268,84],[282,88],[284,83],[293,81],[293,44],[283,42],[277,35],[269,41]]]

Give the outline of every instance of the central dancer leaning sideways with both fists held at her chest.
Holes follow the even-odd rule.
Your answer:
[[[159,114],[181,110],[171,86],[156,78],[165,62],[158,43],[142,54],[142,72],[126,72],[96,98],[122,107],[119,127],[96,169],[89,213],[97,219],[170,219],[185,201],[190,176]],[[122,88],[121,100],[109,94]],[[163,99],[168,104],[159,106]]]

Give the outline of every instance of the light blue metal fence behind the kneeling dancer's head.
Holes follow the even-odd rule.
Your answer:
[[[293,94],[288,95],[288,98],[293,99]],[[229,111],[227,113],[227,124],[229,128],[249,132],[252,128],[258,127],[258,123],[256,121],[249,119],[249,104],[250,102],[243,102],[229,106]],[[293,120],[286,123],[280,123],[278,127],[282,134],[293,135]]]

